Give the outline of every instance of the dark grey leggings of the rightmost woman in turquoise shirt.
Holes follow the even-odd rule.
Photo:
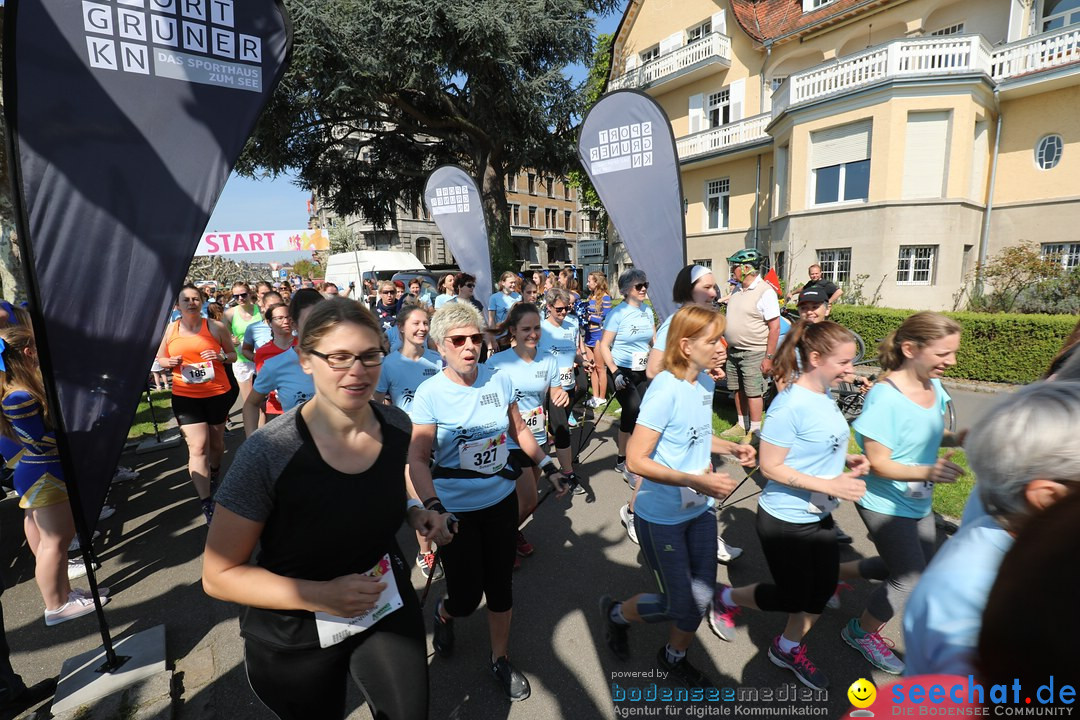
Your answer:
[[[855,505],[874,539],[878,557],[859,561],[859,574],[886,581],[874,588],[866,610],[882,623],[892,620],[915,589],[934,556],[937,529],[933,513],[921,518],[896,517]]]

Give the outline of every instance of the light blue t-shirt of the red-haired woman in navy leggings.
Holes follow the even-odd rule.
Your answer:
[[[706,373],[697,382],[680,380],[667,370],[645,391],[637,424],[660,433],[650,458],[665,467],[700,475],[712,462],[713,391],[716,383]],[[634,512],[659,525],[678,525],[698,517],[716,501],[690,488],[642,483]]]

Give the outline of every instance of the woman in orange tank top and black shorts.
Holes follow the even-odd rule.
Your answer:
[[[225,421],[232,407],[222,363],[232,363],[237,351],[222,323],[200,315],[199,288],[181,287],[178,307],[180,318],[165,328],[157,359],[173,370],[173,415],[188,446],[188,474],[208,524],[214,516],[212,479],[225,454]]]

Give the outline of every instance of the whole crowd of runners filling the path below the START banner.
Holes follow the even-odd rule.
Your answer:
[[[657,667],[707,689],[711,679],[687,658],[702,621],[738,642],[744,610],[782,612],[769,660],[807,687],[828,688],[811,651],[827,652],[831,641],[811,629],[851,583],[872,582],[840,639],[875,668],[1020,675],[1002,653],[1040,638],[984,627],[983,612],[1008,617],[1023,602],[1014,575],[1048,561],[1025,540],[1030,520],[1078,494],[1080,325],[1047,379],[953,433],[942,377],[962,328],[914,313],[880,341],[881,375],[864,384],[849,427],[832,389],[854,379],[856,343],[829,320],[835,286],[812,267],[794,296],[799,320],[782,327],[762,261],[753,249],[728,258],[733,291],[724,297],[711,269],[684,268],[674,287],[651,290],[678,305],[659,327],[648,276],[636,268],[617,279],[618,301],[598,272],[584,288],[569,270],[503,273],[486,307],[464,272],[440,279],[434,298],[381,283],[370,303],[330,284],[285,297],[267,283],[237,283],[226,308],[185,285],[154,370],[170,376],[210,526],[203,584],[244,607],[245,665],[259,699],[279,718],[342,717],[351,675],[375,717],[427,717],[427,635],[409,581],[414,558],[396,540],[404,522],[416,531],[415,563],[429,582],[444,581],[428,608],[434,651],[451,656],[456,620],[485,602],[490,675],[509,699],[527,698],[519,665],[528,663],[511,662],[514,570],[534,552],[519,528],[541,493],[584,492],[572,431],[612,402],[621,409],[615,470],[630,486],[619,515],[650,571],[643,585],[653,583],[616,598],[596,579],[597,630],[616,658],[634,654],[633,625],[665,623]],[[85,614],[90,601],[60,572],[73,530],[32,334],[12,317],[0,339],[0,431],[17,444],[4,456],[54,624]],[[723,391],[738,419],[718,436],[713,408]],[[247,439],[222,477],[238,398]],[[958,446],[976,491],[935,555],[934,488],[964,472],[941,450]],[[715,456],[764,486],[756,533],[769,576],[760,582],[717,582],[717,562],[737,561],[742,549],[717,525],[737,483]],[[850,542],[833,520],[841,502],[855,503],[875,557],[840,562]],[[1028,560],[999,578],[1017,536]],[[894,617],[903,658],[881,635]]]

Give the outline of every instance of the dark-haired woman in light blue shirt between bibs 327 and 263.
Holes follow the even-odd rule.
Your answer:
[[[521,413],[522,420],[525,421],[525,425],[532,431],[532,437],[537,445],[542,448],[548,444],[548,418],[544,407],[554,405],[565,409],[569,405],[570,398],[559,384],[558,365],[555,357],[538,352],[541,330],[540,311],[537,307],[526,302],[514,305],[507,316],[507,327],[510,330],[510,337],[514,340],[514,347],[491,355],[485,365],[508,375],[513,381],[517,411]],[[551,393],[550,405],[549,391]],[[540,468],[513,440],[510,441],[510,454],[515,458],[518,467],[523,468],[521,477],[517,478],[517,525],[521,526],[537,508]],[[569,456],[569,448],[565,454]],[[567,472],[570,465],[563,463],[563,457],[559,457],[558,464],[563,475],[571,483],[576,483],[577,478],[572,472]],[[532,555],[532,545],[518,530],[517,555],[528,557]],[[515,560],[515,567],[517,562]]]

